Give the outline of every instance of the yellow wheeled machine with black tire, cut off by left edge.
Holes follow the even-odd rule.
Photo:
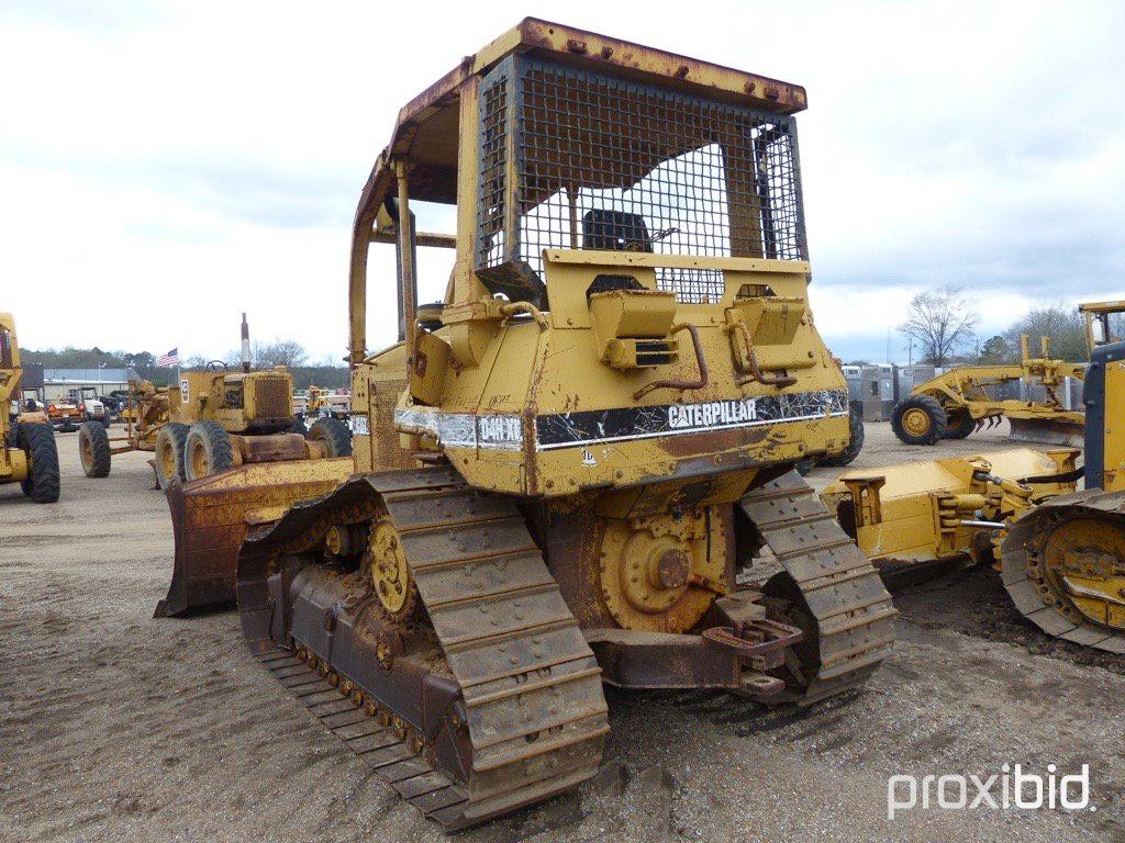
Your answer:
[[[36,504],[58,500],[55,435],[42,420],[20,418],[19,342],[11,314],[0,314],[0,484],[19,483]]]

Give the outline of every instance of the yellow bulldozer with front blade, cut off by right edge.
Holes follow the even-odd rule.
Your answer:
[[[1125,654],[1125,342],[1089,319],[1083,452],[1014,448],[843,474],[822,493],[888,578],[962,560],[992,564],[1016,608],[1048,635]],[[1079,481],[1084,489],[1078,491]]]

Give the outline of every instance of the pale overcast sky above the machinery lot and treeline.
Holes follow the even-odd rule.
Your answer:
[[[944,283],[982,338],[1125,298],[1125,3],[0,0],[0,309],[26,347],[184,356],[236,347],[246,310],[339,360],[397,109],[525,15],[807,88],[812,305],[842,356],[890,333],[904,359],[894,326]],[[372,347],[393,263],[372,250]],[[448,268],[423,256],[423,300]]]

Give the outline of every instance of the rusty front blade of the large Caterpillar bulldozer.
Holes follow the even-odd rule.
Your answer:
[[[246,532],[276,522],[299,500],[332,491],[352,468],[350,456],[254,463],[173,482],[165,491],[176,535],[172,584],[154,617],[233,602]]]

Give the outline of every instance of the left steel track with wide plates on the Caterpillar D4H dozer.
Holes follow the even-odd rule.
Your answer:
[[[350,484],[357,482],[369,483],[398,532],[443,667],[460,687],[472,747],[467,780],[438,769],[402,728],[368,714],[380,706],[357,708],[292,651],[248,635],[258,658],[381,779],[447,831],[594,776],[609,732],[601,669],[515,505],[471,489],[448,468],[387,472]],[[325,501],[331,505],[331,498]],[[358,677],[318,655],[330,679],[362,687],[378,700],[378,688],[360,686]]]

